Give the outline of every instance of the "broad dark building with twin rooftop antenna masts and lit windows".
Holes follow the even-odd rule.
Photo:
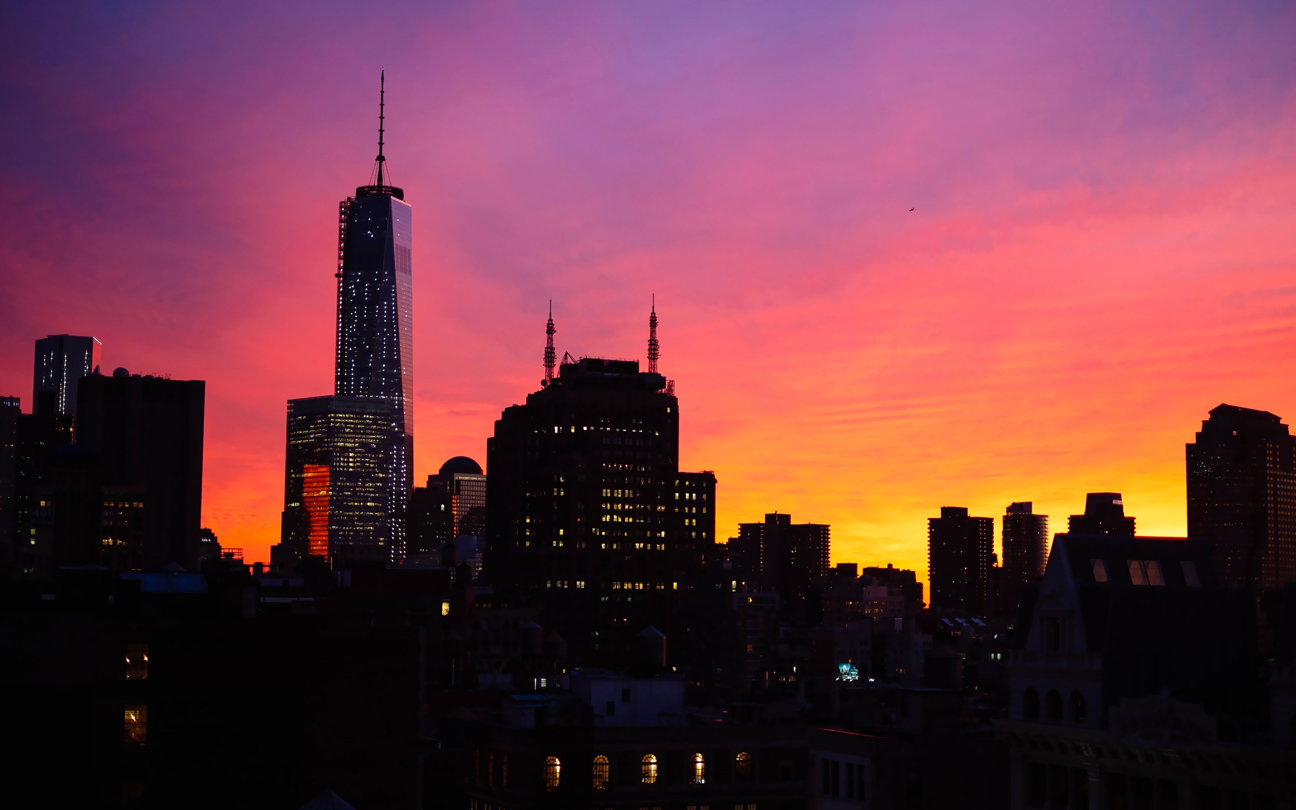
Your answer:
[[[616,664],[625,630],[673,635],[674,597],[715,542],[715,478],[679,472],[665,377],[601,358],[555,375],[552,340],[551,318],[540,390],[487,443],[486,577],[543,595],[574,660]]]

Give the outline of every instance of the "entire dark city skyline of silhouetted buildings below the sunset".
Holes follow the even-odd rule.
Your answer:
[[[14,806],[1293,806],[1279,417],[1210,411],[1187,538],[1135,534],[1116,492],[1052,538],[1032,502],[941,507],[924,592],[784,512],[719,537],[656,305],[645,367],[559,360],[551,311],[485,470],[416,486],[381,121],[340,209],[334,391],[288,402],[270,564],[200,525],[203,382],[105,376],[97,341],[52,336],[31,411],[0,398]]]

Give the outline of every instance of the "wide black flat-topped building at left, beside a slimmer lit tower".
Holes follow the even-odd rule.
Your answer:
[[[95,540],[109,539],[114,547],[121,540],[122,546],[122,553],[105,562],[150,570],[176,562],[196,570],[202,527],[205,398],[202,380],[130,375],[124,368],[111,377],[82,378],[76,445],[79,451],[97,455],[101,474],[101,490],[84,498],[105,509],[102,520],[96,520],[104,534],[95,533]],[[89,463],[74,456],[66,460],[70,472],[56,476],[54,485],[67,491],[92,487]],[[140,503],[144,505],[136,505]],[[57,525],[62,517],[57,503],[54,507]],[[140,509],[143,535],[137,531]],[[128,530],[117,531],[122,521]],[[58,537],[65,537],[62,530],[56,530]],[[136,537],[143,537],[143,544]],[[86,556],[93,555],[76,559]],[[56,550],[56,559],[71,557]]]

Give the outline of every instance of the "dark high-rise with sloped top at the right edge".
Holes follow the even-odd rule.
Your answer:
[[[1221,404],[1187,445],[1188,537],[1220,578],[1257,595],[1296,582],[1296,437],[1267,411]]]

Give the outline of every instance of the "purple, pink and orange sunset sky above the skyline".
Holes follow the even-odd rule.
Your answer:
[[[386,69],[416,480],[485,464],[551,299],[560,353],[643,359],[656,294],[722,538],[925,579],[940,507],[1087,491],[1182,535],[1208,411],[1296,417],[1293,41],[1277,1],[14,0],[0,394],[64,332],[206,380],[203,525],[268,559]]]

